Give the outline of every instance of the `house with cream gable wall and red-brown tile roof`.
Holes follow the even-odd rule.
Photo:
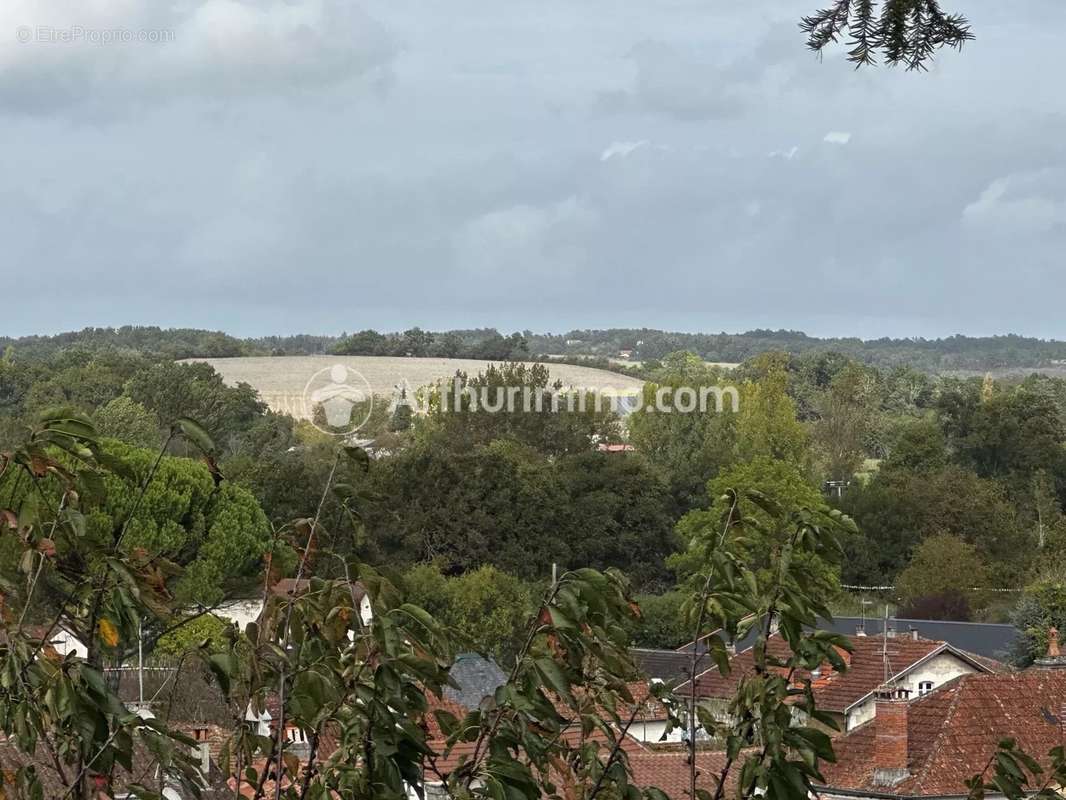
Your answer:
[[[906,636],[855,636],[851,643],[851,653],[840,651],[847,665],[845,671],[837,672],[827,665],[811,673],[796,673],[797,683],[810,679],[815,705],[833,715],[841,731],[852,731],[874,717],[878,690],[887,688],[898,697],[916,698],[960,675],[1003,669],[948,642],[923,639],[917,631]],[[768,641],[768,650],[782,660],[791,655],[788,643],[776,634]],[[739,652],[730,663],[728,675],[714,667],[697,675],[699,697],[721,699],[724,707],[744,676],[755,669],[753,650]],[[690,684],[683,684],[678,691],[689,693]]]

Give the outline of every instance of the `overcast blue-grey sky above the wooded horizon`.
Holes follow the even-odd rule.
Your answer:
[[[927,75],[818,4],[3,0],[0,334],[1066,338],[1066,3]]]

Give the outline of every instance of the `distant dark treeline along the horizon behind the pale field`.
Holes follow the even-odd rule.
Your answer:
[[[1023,336],[950,336],[943,339],[817,338],[797,331],[757,330],[742,334],[669,333],[652,329],[609,329],[535,334],[502,334],[496,329],[445,332],[411,327],[399,333],[359,331],[340,336],[237,338],[219,331],[155,326],[86,327],[56,336],[0,337],[7,357],[39,358],[70,349],[130,350],[161,358],[239,355],[383,355],[528,359],[548,355],[567,359],[659,361],[688,350],[709,362],[740,363],[768,351],[792,355],[836,352],[877,367],[908,365],[928,372],[1036,368],[1066,365],[1066,341]]]

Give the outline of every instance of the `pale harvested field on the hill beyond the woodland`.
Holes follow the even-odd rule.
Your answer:
[[[330,381],[330,370],[343,367],[345,383],[369,386],[379,397],[392,397],[401,387],[408,391],[430,386],[457,371],[477,374],[492,362],[471,358],[393,358],[370,355],[293,355],[249,356],[241,358],[190,358],[210,364],[230,385],[247,383],[271,409],[296,418],[307,418],[311,403],[305,401],[309,385],[319,387]],[[635,378],[592,367],[549,364],[553,380],[565,387],[635,394],[644,385]],[[337,373],[337,377],[341,377]],[[306,390],[306,391],[305,391]]]

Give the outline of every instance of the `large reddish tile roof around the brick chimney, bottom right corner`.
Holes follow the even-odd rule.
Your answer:
[[[1066,670],[963,675],[907,704],[910,777],[892,795],[966,795],[966,780],[981,772],[1006,737],[1048,767],[1048,751],[1066,741]],[[839,790],[873,786],[874,718],[837,739],[837,763],[826,765],[826,785]],[[884,787],[879,789],[885,791]]]

